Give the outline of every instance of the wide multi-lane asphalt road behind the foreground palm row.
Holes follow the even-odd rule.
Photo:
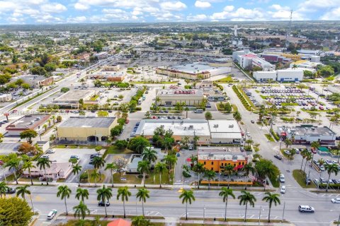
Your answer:
[[[30,188],[32,191],[33,205],[36,211],[40,211],[38,225],[45,225],[47,222],[47,213],[52,209],[57,209],[58,213],[65,211],[64,201],[57,198],[57,187],[49,186],[34,186]],[[72,214],[73,206],[77,206],[79,201],[74,198],[76,186],[71,187],[72,195],[67,199],[69,213]],[[98,207],[96,201],[96,189],[89,189],[89,200],[85,203],[93,214],[104,214],[103,207]],[[127,215],[141,215],[142,206],[139,201],[136,201],[136,189],[130,189],[132,196],[126,203]],[[145,214],[152,216],[164,216],[168,218],[179,218],[185,216],[185,205],[179,199],[179,190],[159,190],[150,189],[150,198],[145,203]],[[222,198],[218,196],[220,191],[194,191],[196,201],[189,205],[188,216],[203,218],[223,218],[225,204],[222,203]],[[235,191],[235,196],[239,196],[240,192]],[[268,203],[261,201],[263,192],[251,192],[256,197],[257,201],[254,208],[248,208],[247,218],[258,219],[259,210],[261,208],[261,219],[268,218]],[[113,198],[111,198],[111,206],[108,207],[109,215],[122,215],[123,203],[116,199],[117,189],[113,189]],[[280,197],[281,205],[274,206],[271,210],[271,219],[286,219],[293,222],[295,225],[329,225],[329,222],[335,220],[339,216],[340,204],[333,204],[329,196],[318,196],[302,189],[290,187],[286,194]],[[299,205],[310,205],[315,208],[315,213],[300,213],[297,210]],[[284,207],[284,215],[283,215]],[[203,210],[205,208],[205,210]],[[137,212],[136,212],[137,210]],[[239,200],[230,198],[228,201],[227,217],[228,218],[244,218],[244,206],[239,206]],[[47,222],[48,223],[48,222]]]

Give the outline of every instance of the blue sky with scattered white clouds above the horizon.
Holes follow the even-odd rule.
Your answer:
[[[0,24],[340,20],[340,0],[0,0]]]

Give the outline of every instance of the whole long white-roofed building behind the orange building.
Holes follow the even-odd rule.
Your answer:
[[[171,129],[174,132],[175,141],[181,141],[185,136],[193,141],[193,137],[198,136],[198,144],[242,144],[241,129],[234,120],[142,119],[136,136],[145,136],[152,140],[154,130],[159,126],[165,130]]]

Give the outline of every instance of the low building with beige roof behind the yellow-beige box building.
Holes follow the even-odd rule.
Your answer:
[[[96,90],[69,90],[60,97],[52,101],[53,105],[58,105],[61,108],[79,108],[79,100],[90,100],[96,95]]]

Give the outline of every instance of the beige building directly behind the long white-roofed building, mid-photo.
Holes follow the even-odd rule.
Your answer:
[[[156,96],[160,99],[158,105],[167,107],[175,106],[178,102],[185,103],[186,106],[197,106],[203,100],[202,90],[164,89],[157,90]]]

